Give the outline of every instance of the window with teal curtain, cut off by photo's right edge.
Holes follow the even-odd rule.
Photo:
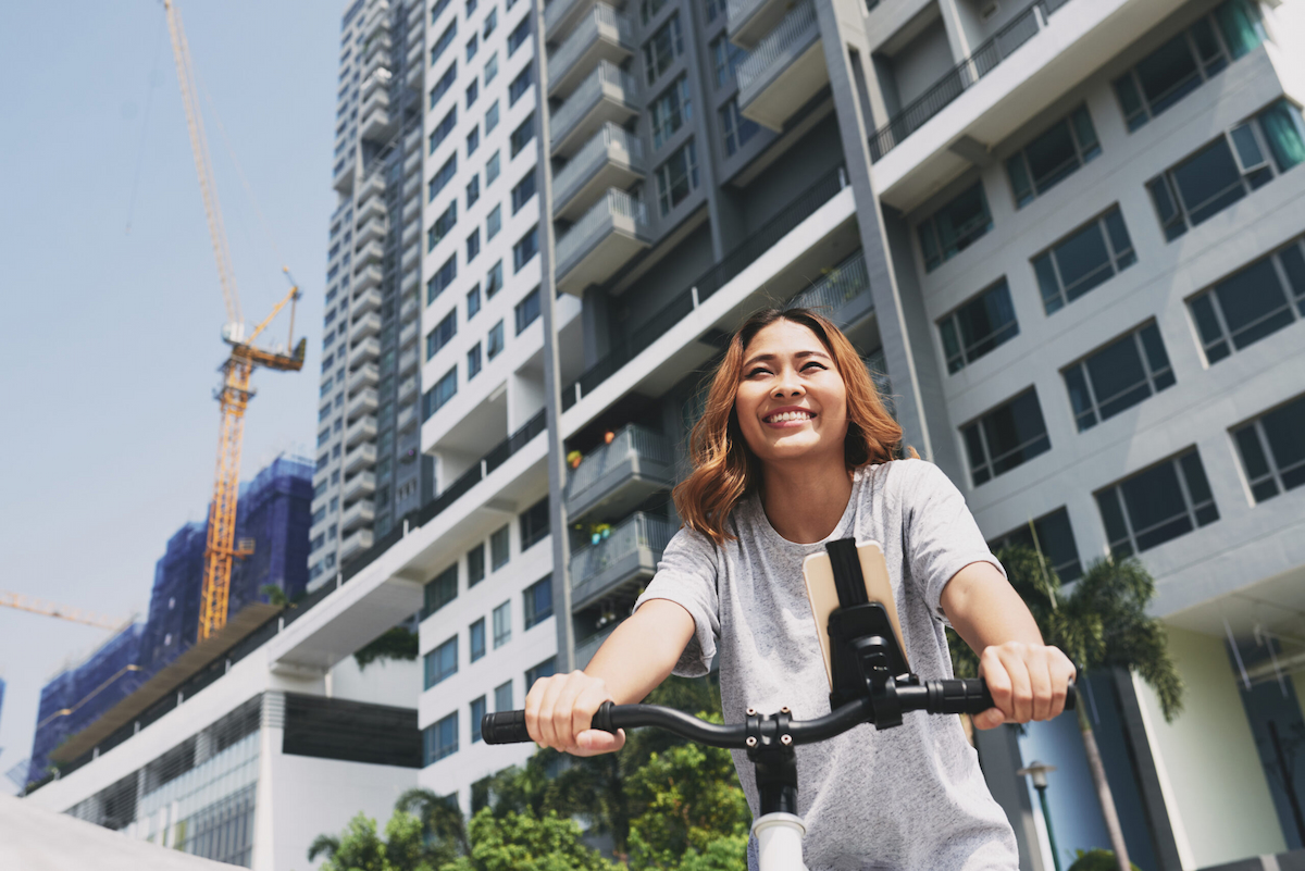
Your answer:
[[[1173,241],[1272,181],[1268,154],[1279,173],[1305,160],[1305,121],[1293,103],[1278,100],[1147,183],[1164,237]]]

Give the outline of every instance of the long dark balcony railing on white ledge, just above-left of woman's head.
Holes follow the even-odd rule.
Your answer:
[[[769,252],[775,243],[787,236],[797,224],[810,218],[817,209],[833,199],[846,186],[847,175],[843,167],[837,167],[780,209],[774,218],[757,229],[757,232],[752,233],[746,241],[726,254],[724,259],[699,275],[696,282],[692,282],[689,287],[673,296],[660,310],[646,321],[642,321],[638,330],[625,342],[613,342],[612,351],[606,357],[585,370],[578,379],[573,381],[562,391],[562,411],[574,406],[581,396],[596,390],[599,385],[638,356],[641,351],[666,335],[680,321],[693,314],[699,304],[710,299],[713,293],[750,266],[753,261]]]

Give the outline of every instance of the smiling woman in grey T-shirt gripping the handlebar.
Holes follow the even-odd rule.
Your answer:
[[[1043,644],[957,488],[929,463],[893,459],[900,439],[838,327],[803,309],[750,317],[693,432],[693,473],[675,490],[684,528],[589,668],[531,687],[531,738],[574,755],[620,750],[624,734],[590,729],[598,707],[638,701],[672,672],[706,674],[718,652],[727,721],[748,707],[827,713],[801,561],[846,537],[882,545],[916,673],[951,674],[945,623],[979,653],[996,707],[977,728],[1058,715],[1073,665]],[[743,752],[735,767],[756,815]],[[957,717],[859,726],[799,747],[797,772],[812,871],[1018,867]]]

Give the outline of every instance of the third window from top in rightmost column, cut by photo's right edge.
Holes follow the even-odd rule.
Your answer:
[[[1295,240],[1188,300],[1207,362],[1219,362],[1233,349],[1305,318],[1302,241]]]

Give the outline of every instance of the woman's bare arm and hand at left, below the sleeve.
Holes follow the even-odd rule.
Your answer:
[[[625,746],[625,731],[590,729],[598,707],[611,699],[643,699],[671,674],[689,639],[693,617],[667,598],[650,598],[598,648],[583,672],[535,682],[526,695],[526,729],[535,743],[592,756]]]

